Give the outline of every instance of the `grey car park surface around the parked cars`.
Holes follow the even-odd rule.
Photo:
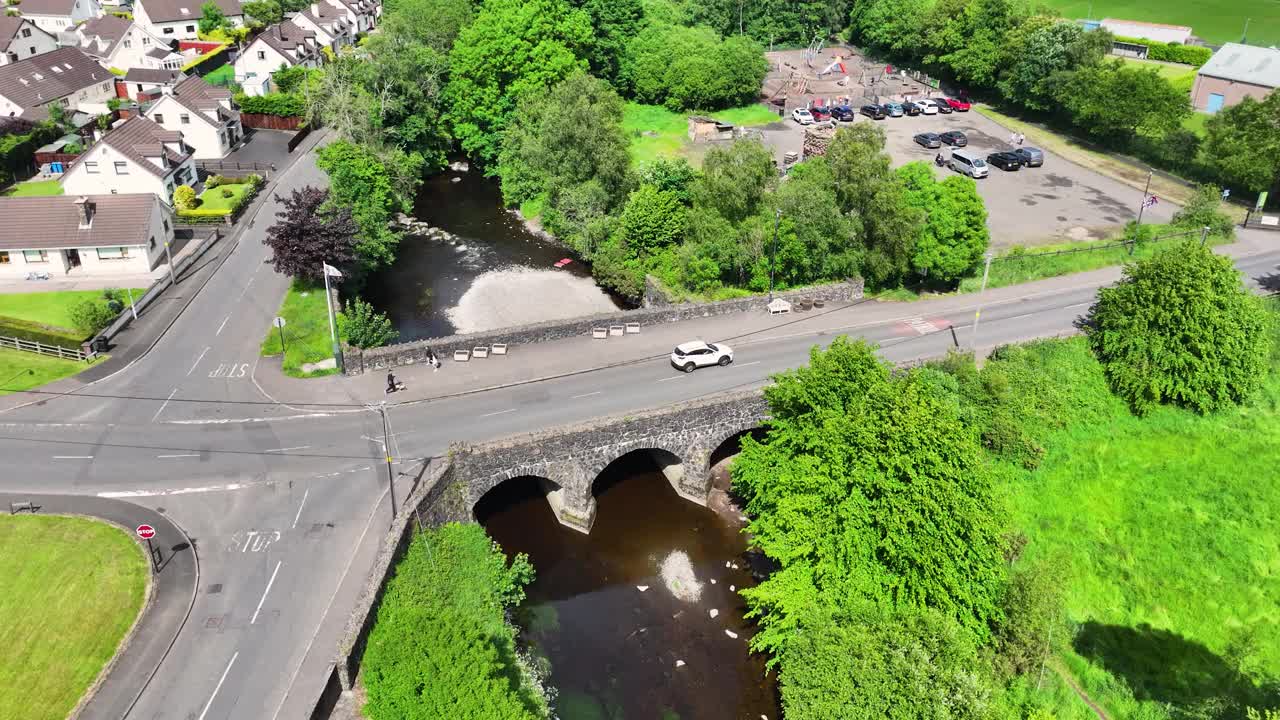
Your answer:
[[[854,122],[877,123],[884,128],[886,149],[895,167],[923,160],[940,178],[952,170],[933,165],[938,150],[916,145],[911,140],[916,133],[963,131],[969,138],[969,149],[983,156],[1010,147],[1010,132],[975,111],[883,120],[858,115]],[[800,150],[804,129],[791,122],[774,123],[765,129],[764,137],[781,159],[787,150]],[[946,146],[942,155],[947,155]],[[991,168],[991,176],[978,181],[978,193],[987,205],[987,227],[995,247],[1110,237],[1137,217],[1142,200],[1142,191],[1051,152],[1044,152],[1044,165],[1039,168],[1011,173]],[[1169,222],[1175,210],[1171,202],[1161,202],[1147,209],[1143,222]]]

